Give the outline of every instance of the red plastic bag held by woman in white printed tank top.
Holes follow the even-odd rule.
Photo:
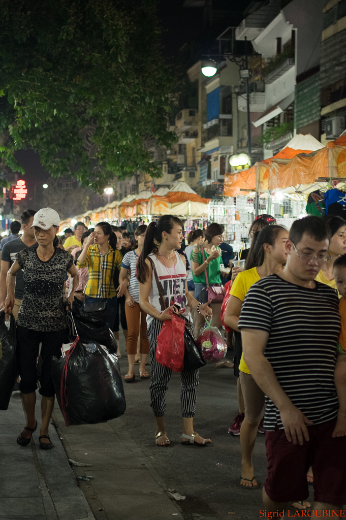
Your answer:
[[[174,313],[170,314],[172,319],[163,322],[157,338],[156,360],[163,367],[181,372],[184,370],[185,321]]]

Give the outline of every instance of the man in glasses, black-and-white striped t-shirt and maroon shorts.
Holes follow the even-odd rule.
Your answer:
[[[239,318],[244,360],[266,395],[263,502],[269,511],[309,496],[310,465],[316,512],[346,503],[346,437],[332,437],[339,299],[314,281],[328,259],[329,238],[319,217],[296,220],[285,269],[252,285]]]

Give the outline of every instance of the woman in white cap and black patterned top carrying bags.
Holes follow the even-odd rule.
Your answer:
[[[15,302],[15,280],[20,269],[24,275],[24,295],[17,320],[17,351],[20,373],[20,391],[28,423],[17,438],[27,446],[36,430],[35,419],[37,373],[36,359],[40,343],[42,367],[39,393],[42,395],[42,424],[40,448],[53,448],[48,427],[54,408],[55,389],[50,363],[52,356],[61,356],[61,346],[68,340],[68,328],[63,305],[63,282],[66,271],[73,280],[67,301],[72,305],[78,285],[78,272],[68,251],[58,248],[56,233],[60,217],[55,210],[45,207],[34,215],[32,227],[39,245],[20,251],[7,274],[5,313],[11,313]]]

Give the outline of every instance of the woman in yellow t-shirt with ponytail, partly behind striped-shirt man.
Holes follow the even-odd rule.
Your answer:
[[[265,226],[261,231],[254,233],[246,261],[246,270],[239,272],[233,282],[225,313],[225,323],[235,331],[234,373],[238,377],[240,409],[228,432],[234,435],[240,433],[242,449],[240,485],[246,488],[259,487],[254,478],[252,451],[258,427],[263,418],[264,394],[252,378],[242,357],[238,321],[242,303],[251,285],[265,276],[276,276],[283,270],[287,257],[285,250],[287,240],[288,231],[282,226]],[[261,309],[259,309],[260,312]],[[245,407],[245,413],[243,407]],[[264,433],[263,428],[260,432]]]

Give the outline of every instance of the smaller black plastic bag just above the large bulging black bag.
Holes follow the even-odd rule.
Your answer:
[[[84,312],[82,307],[75,305],[75,303],[73,303],[71,314],[73,321],[69,318],[68,312],[67,322],[73,339],[77,335],[82,340],[82,343],[99,343],[100,345],[105,345],[110,352],[117,352],[117,341],[113,332],[108,328],[107,323],[105,324],[101,320],[91,318],[88,316],[88,313]]]

